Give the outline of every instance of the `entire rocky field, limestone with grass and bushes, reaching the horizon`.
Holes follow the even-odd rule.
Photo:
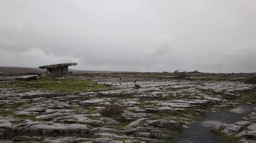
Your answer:
[[[244,84],[246,76],[80,74],[68,83],[56,81],[68,91],[50,88],[46,81],[48,86],[14,84],[14,78],[1,77],[0,142],[174,142],[210,113],[254,106],[256,86]],[[255,141],[255,110],[240,122],[214,126],[212,134]]]

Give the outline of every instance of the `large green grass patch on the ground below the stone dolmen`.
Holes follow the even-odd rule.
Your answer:
[[[1,85],[0,85],[1,86]],[[28,91],[58,91],[61,93],[104,91],[113,89],[113,86],[97,84],[94,81],[79,79],[38,79],[36,81],[12,81],[6,88],[15,88]]]

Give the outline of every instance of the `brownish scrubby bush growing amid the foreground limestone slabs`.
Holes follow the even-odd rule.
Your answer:
[[[105,105],[104,109],[100,111],[102,116],[113,117],[124,113],[125,107],[118,105],[115,101],[112,101],[110,105]]]

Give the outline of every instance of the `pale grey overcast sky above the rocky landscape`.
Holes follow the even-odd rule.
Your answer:
[[[256,71],[255,0],[1,0],[0,66]]]

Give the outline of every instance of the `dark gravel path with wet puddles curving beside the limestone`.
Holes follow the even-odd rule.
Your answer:
[[[245,117],[249,114],[255,105],[240,105],[237,108],[226,111],[218,111],[215,113],[210,113],[200,122],[192,123],[188,125],[188,128],[181,132],[181,135],[178,135],[174,142],[182,143],[203,143],[203,142],[221,142],[216,135],[213,135],[210,132],[210,129],[214,126],[219,126],[223,123],[234,123],[241,120],[242,117]]]

